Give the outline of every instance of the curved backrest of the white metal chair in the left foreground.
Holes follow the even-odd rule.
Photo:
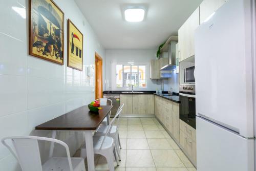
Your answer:
[[[7,140],[11,140],[14,149],[7,143]],[[5,137],[1,140],[1,142],[9,149],[12,155],[17,159],[23,171],[42,171],[38,140],[55,142],[64,146],[67,151],[70,171],[73,171],[69,147],[65,142],[52,138],[36,136]]]

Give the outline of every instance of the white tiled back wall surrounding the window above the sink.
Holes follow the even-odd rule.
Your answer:
[[[116,88],[116,65],[127,64],[128,61],[134,61],[135,65],[146,66],[147,88],[136,88],[135,90],[156,91],[160,89],[161,81],[150,79],[150,61],[156,58],[157,50],[106,50],[106,90],[131,90],[130,88]]]

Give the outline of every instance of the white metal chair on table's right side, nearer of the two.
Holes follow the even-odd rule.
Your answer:
[[[93,148],[94,148],[94,154],[102,155],[106,158],[106,161],[108,162],[110,171],[114,171],[114,157],[116,158],[117,165],[119,166],[119,159],[116,155],[116,147],[114,144],[114,139],[112,137],[109,137],[109,134],[111,132],[113,123],[115,119],[119,116],[122,110],[118,110],[115,117],[110,122],[110,125],[108,127],[108,130],[106,130],[106,133],[104,136],[93,136]],[[84,159],[87,157],[86,153],[86,146],[84,145],[81,148],[81,157]]]

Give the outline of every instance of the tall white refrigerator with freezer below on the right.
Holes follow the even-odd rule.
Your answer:
[[[254,170],[254,41],[255,0],[229,0],[195,32],[198,171]]]

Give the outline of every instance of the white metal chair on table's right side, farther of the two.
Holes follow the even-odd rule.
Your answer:
[[[122,110],[124,104],[122,104],[121,106],[119,106],[118,110]],[[115,125],[112,126],[112,129],[110,131],[109,136],[112,137],[114,139],[114,143],[115,143],[115,147],[117,150],[117,155],[119,160],[121,161],[121,156],[120,156],[120,148],[122,148],[121,143],[120,143],[120,138],[119,138],[119,133],[118,133],[118,129],[119,129],[119,125],[120,125],[120,116],[121,113],[119,114],[118,112],[116,113],[116,115],[118,115],[118,121]],[[116,116],[115,116],[116,117]],[[106,134],[106,132],[108,131],[110,125],[100,125],[98,130],[94,133],[94,135],[98,135],[98,136],[103,136]]]

